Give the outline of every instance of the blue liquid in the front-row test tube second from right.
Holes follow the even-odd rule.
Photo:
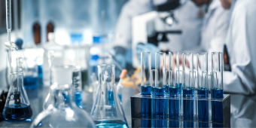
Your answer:
[[[209,97],[208,88],[202,87],[200,90],[197,90],[197,95],[202,98]],[[209,101],[207,100],[198,100],[198,120],[200,121],[209,121]],[[209,123],[199,123],[199,127],[209,127]]]

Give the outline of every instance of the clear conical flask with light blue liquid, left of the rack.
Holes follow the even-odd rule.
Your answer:
[[[99,88],[91,116],[97,127],[128,127],[117,90],[114,86],[114,65],[98,66]]]

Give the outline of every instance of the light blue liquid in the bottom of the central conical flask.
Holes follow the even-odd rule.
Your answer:
[[[102,120],[94,122],[98,128],[128,128],[128,125],[123,120]]]

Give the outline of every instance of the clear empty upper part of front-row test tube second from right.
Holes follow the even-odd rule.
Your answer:
[[[208,74],[208,53],[203,52],[197,53],[197,91],[203,87],[202,80],[204,76],[202,72]]]

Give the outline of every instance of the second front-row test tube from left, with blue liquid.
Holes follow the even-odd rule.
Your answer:
[[[155,96],[165,97],[166,87],[166,53],[157,52],[155,54]],[[156,99],[156,119],[164,119],[168,115],[168,99]],[[165,120],[156,120],[156,127],[165,127]]]

